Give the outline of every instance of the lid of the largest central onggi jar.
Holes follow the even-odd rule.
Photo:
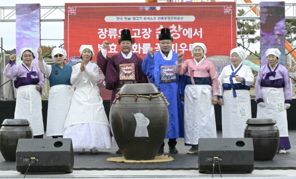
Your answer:
[[[124,84],[118,91],[118,93],[122,95],[142,95],[160,93],[158,88],[152,83]]]

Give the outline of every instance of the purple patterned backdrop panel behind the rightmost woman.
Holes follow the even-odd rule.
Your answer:
[[[267,64],[268,48],[280,50],[278,63],[285,66],[285,2],[260,2],[260,29],[261,67]]]

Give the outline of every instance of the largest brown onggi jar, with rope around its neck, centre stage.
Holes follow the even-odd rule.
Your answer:
[[[110,124],[120,151],[127,160],[153,160],[169,124],[165,98],[151,83],[125,84],[117,95]]]

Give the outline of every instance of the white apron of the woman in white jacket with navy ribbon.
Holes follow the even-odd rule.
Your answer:
[[[222,105],[222,137],[244,138],[246,122],[252,118],[251,99],[248,90],[224,90]]]

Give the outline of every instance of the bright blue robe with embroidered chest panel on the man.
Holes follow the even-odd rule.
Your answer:
[[[166,139],[176,139],[184,137],[184,125],[181,111],[180,96],[184,94],[182,89],[182,78],[175,72],[175,62],[178,60],[178,54],[171,50],[166,57],[159,50],[157,53],[147,54],[142,69],[151,83],[159,87],[167,101],[170,103],[169,109],[169,127]]]

